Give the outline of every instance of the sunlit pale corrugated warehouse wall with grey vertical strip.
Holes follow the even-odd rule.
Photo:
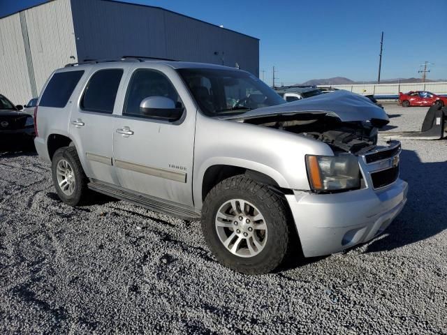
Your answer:
[[[77,59],[70,0],[0,19],[0,93],[15,104],[41,94],[52,71]]]

